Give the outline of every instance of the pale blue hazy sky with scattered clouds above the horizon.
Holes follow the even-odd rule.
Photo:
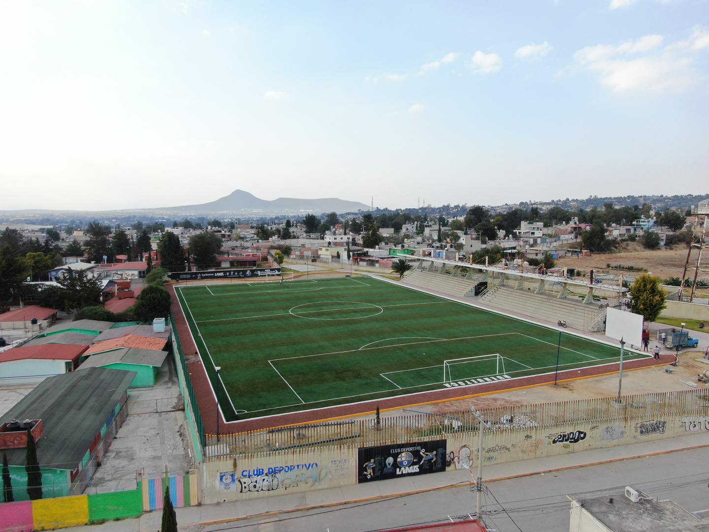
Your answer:
[[[0,4],[0,208],[709,192],[709,2]]]

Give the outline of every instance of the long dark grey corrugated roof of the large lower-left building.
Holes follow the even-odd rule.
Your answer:
[[[74,470],[136,375],[134,371],[91,367],[49,377],[2,416],[0,423],[42,419],[44,433],[37,442],[40,465]],[[4,452],[11,465],[25,465],[26,449]]]

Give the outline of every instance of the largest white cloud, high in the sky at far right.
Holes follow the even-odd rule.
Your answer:
[[[579,65],[599,72],[601,84],[613,92],[681,93],[696,87],[702,76],[689,52],[709,48],[709,33],[695,28],[686,41],[657,50],[662,35],[645,35],[618,45],[596,45],[579,50]]]

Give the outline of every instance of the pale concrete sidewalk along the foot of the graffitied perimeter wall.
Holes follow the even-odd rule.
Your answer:
[[[485,482],[507,480],[515,477],[544,475],[548,472],[598,465],[620,460],[632,460],[646,456],[673,453],[693,448],[709,447],[709,432],[654,440],[632,445],[587,450],[580,453],[532,458],[520,462],[486,465],[483,468]],[[472,472],[476,475],[477,470]],[[371,501],[403,494],[447,489],[469,484],[473,475],[469,470],[446,472],[438,475],[421,475],[396,480],[353,484],[350,486],[320,489],[313,492],[298,492],[279,497],[261,497],[240,502],[208,504],[177,509],[177,522],[181,531],[197,531],[202,526],[230,523],[246,518],[273,516],[293,511],[340,506],[354,502]],[[110,521],[101,525],[74,527],[74,531],[86,532],[139,532],[160,530],[162,513],[153,511],[140,519]]]

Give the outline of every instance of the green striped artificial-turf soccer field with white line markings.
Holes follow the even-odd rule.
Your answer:
[[[557,364],[554,328],[370,277],[176,293],[215,389],[221,367],[228,421],[450,387],[474,393],[474,384],[554,372]],[[562,333],[559,370],[619,358],[620,348]]]

